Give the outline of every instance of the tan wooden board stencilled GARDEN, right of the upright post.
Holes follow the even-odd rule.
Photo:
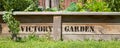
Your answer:
[[[117,23],[66,23],[63,34],[120,34]]]

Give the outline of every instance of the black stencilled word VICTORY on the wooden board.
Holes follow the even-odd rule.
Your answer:
[[[52,32],[52,26],[21,26],[22,32]]]

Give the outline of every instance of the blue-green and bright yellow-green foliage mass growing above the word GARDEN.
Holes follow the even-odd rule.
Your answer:
[[[110,8],[108,8],[108,4],[104,1],[87,1],[84,4],[82,1],[78,3],[72,2],[70,6],[66,9],[67,11],[92,11],[92,12],[109,12],[111,11]]]

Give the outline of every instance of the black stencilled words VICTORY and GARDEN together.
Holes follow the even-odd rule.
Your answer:
[[[52,32],[53,26],[21,26],[22,32]],[[95,32],[94,26],[64,26],[64,32]]]

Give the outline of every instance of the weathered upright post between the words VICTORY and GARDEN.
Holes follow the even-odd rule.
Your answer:
[[[54,16],[53,17],[53,39],[55,41],[62,39],[61,16]]]

